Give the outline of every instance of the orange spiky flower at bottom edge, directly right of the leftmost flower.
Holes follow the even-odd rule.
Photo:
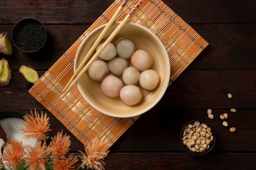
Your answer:
[[[45,170],[45,163],[48,161],[48,150],[45,144],[36,142],[35,148],[27,146],[27,157],[26,159],[28,170]]]

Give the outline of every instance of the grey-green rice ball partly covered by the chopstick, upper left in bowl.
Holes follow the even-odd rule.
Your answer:
[[[96,47],[96,52],[99,51],[101,46],[103,45],[104,42],[101,42],[97,47]],[[106,48],[99,54],[99,58],[102,60],[111,60],[117,56],[117,49],[114,44],[111,42],[106,46]]]

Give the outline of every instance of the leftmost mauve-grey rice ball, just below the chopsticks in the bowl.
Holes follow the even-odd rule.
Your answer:
[[[108,64],[102,60],[95,60],[88,68],[88,74],[94,81],[101,82],[109,74]]]

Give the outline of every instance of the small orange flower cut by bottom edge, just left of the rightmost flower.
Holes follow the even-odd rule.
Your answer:
[[[69,155],[68,158],[61,158],[54,162],[54,170],[74,170],[74,163],[78,161],[77,156]]]

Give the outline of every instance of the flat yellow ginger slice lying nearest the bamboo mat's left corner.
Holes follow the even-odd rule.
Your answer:
[[[28,82],[36,83],[39,79],[37,71],[28,66],[20,66],[20,73],[25,77]]]

